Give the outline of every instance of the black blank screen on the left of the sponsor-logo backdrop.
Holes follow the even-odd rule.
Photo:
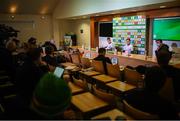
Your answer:
[[[112,23],[103,22],[99,24],[99,36],[100,37],[112,37]]]

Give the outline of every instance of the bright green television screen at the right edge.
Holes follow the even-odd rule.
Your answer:
[[[156,18],[153,22],[153,40],[180,41],[180,17]]]

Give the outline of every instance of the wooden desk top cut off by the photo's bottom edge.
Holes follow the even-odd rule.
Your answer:
[[[115,120],[115,118],[117,116],[124,117],[127,120],[132,120],[132,118],[130,116],[126,115],[125,113],[123,113],[122,111],[120,111],[118,109],[112,109],[112,110],[102,113],[100,115],[94,116],[91,119],[96,120],[96,119],[101,119],[104,117],[109,117],[111,120]]]

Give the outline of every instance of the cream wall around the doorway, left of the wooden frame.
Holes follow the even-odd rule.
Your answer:
[[[83,33],[80,32],[83,30]],[[77,44],[81,46],[90,45],[90,19],[81,20],[60,20],[59,21],[59,35],[60,41],[63,41],[63,37],[66,33],[75,33],[77,35]]]

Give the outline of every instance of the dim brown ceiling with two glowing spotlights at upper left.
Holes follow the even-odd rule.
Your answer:
[[[51,14],[60,0],[0,0],[1,14]]]

